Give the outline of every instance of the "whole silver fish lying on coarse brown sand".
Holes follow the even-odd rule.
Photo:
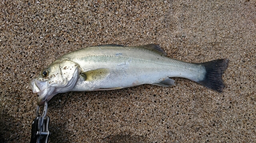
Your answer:
[[[183,77],[222,92],[222,74],[228,60],[187,63],[166,57],[159,45],[127,47],[99,45],[60,56],[30,81],[37,104],[42,105],[58,93],[99,91],[154,84],[170,87]]]

